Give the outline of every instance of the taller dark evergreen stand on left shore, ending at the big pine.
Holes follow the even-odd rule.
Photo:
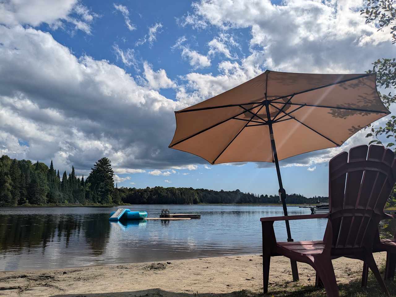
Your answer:
[[[95,163],[89,176],[77,177],[74,166],[62,178],[51,161],[41,162],[0,158],[0,206],[120,204],[114,195],[114,172],[111,162],[102,158]]]

